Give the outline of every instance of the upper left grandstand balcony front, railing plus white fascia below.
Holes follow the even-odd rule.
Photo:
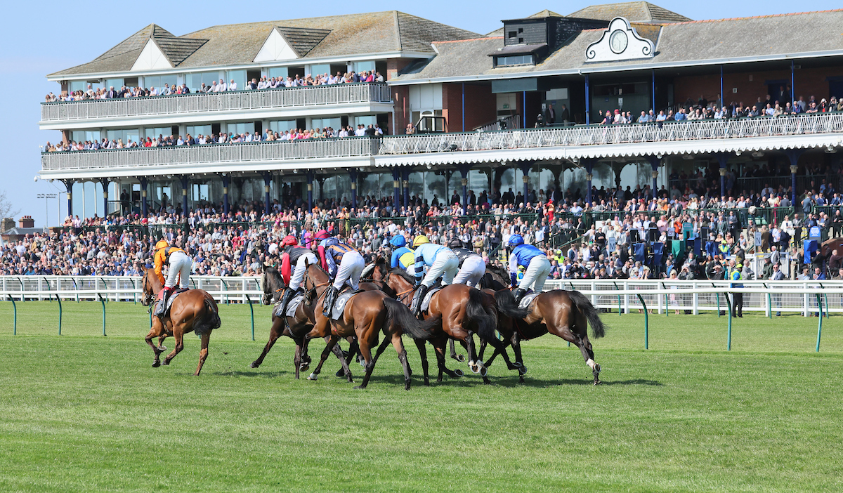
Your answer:
[[[392,110],[383,83],[336,84],[147,98],[41,103],[42,130],[100,128],[121,124],[179,124],[228,117],[296,118]]]

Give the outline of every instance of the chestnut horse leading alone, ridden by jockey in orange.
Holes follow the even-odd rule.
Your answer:
[[[143,298],[141,304],[152,309],[152,304],[158,293],[164,286],[158,279],[153,269],[147,269],[143,273]],[[185,348],[184,337],[189,332],[196,332],[196,335],[201,336],[201,351],[199,351],[199,366],[196,367],[198,375],[201,372],[202,365],[208,356],[208,340],[211,340],[211,331],[218,329],[220,326],[219,310],[217,309],[217,302],[213,297],[202,289],[191,289],[180,293],[173,301],[172,307],[164,320],[153,317],[153,327],[149,330],[147,335],[147,344],[153,348],[155,353],[155,361],[153,367],[160,367],[161,353],[167,348],[161,346],[164,339],[168,335],[172,335],[175,339],[175,348],[164,357],[164,364],[169,365],[173,361],[175,355],[179,354]],[[158,347],[153,344],[153,338],[158,337]]]

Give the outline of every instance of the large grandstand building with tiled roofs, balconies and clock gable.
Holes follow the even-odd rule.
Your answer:
[[[167,197],[224,210],[239,201],[269,210],[292,197],[310,206],[320,196],[448,201],[454,190],[466,201],[469,189],[580,189],[592,201],[622,173],[652,193],[699,174],[696,185],[720,195],[730,173],[737,190],[798,196],[824,181],[840,190],[843,111],[830,104],[843,99],[840,25],[843,10],[691,20],[647,2],[545,10],[488,35],[395,11],[180,36],[151,24],[47,78],[62,95],[183,84],[190,94],[45,102],[40,128],[64,142],[360,125],[384,136],[45,152],[40,176],[67,185],[68,212],[78,215],[86,181],[105,190],[107,212],[129,190],[140,213]],[[247,87],[351,72],[384,82]],[[198,92],[220,82],[237,90]],[[768,102],[781,115],[763,115]],[[796,115],[784,110],[803,104]],[[698,105],[762,115],[688,118]],[[634,121],[652,111],[653,121],[606,125],[607,111]],[[416,133],[406,135],[408,125]]]

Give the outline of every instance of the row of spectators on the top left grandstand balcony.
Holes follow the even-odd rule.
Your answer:
[[[322,86],[342,83],[383,83],[384,76],[380,72],[363,71],[363,72],[336,72],[336,75],[329,73],[316,74],[315,76],[307,74],[302,78],[298,74],[293,76],[283,77],[268,77],[252,78],[244,84],[244,87],[239,87],[238,84],[231,79],[228,83],[225,79],[213,81],[211,85],[201,83],[201,86],[195,88],[196,93],[224,93],[238,90],[260,90],[260,89],[276,89],[276,88],[296,88],[303,86]],[[171,96],[174,94],[191,94],[191,89],[187,84],[180,85],[164,83],[163,88],[141,88],[141,87],[126,87],[121,86],[115,89],[114,86],[105,88],[94,88],[92,84],[88,84],[86,90],[78,89],[76,91],[68,92],[56,96],[50,93],[45,96],[46,103],[54,103],[56,101],[84,101],[87,99],[119,99],[119,98],[148,98],[150,96]]]

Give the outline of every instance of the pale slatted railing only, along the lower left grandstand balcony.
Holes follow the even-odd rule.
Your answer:
[[[41,154],[41,170],[115,169],[214,163],[283,162],[314,158],[372,156],[378,138],[346,137],[306,141],[138,147]]]

